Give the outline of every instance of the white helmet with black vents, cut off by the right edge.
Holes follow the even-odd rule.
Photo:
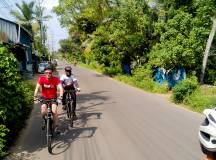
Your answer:
[[[199,141],[204,154],[207,151],[216,152],[216,108],[205,109],[204,121],[199,128]]]

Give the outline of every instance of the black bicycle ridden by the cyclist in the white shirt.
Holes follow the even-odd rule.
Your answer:
[[[70,126],[73,127],[73,121],[75,116],[75,106],[73,105],[74,99],[72,96],[76,96],[76,90],[65,90],[66,93],[66,110],[67,117],[70,119]]]

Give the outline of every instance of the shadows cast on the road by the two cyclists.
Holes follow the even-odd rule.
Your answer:
[[[74,141],[91,138],[95,134],[97,127],[89,127],[89,124],[86,127],[86,125],[90,119],[101,119],[102,113],[99,106],[109,99],[107,96],[101,95],[105,92],[81,93],[77,96],[78,120],[75,121],[74,128],[69,126],[66,111],[60,114],[59,129],[61,135],[56,137],[57,143],[53,145],[53,155],[65,152]]]

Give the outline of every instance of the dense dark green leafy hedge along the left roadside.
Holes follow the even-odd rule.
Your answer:
[[[0,140],[0,151],[3,151],[12,141],[10,137],[14,137],[23,126],[31,110],[33,90],[22,81],[17,61],[7,48],[0,47],[0,57],[0,124],[10,130],[7,132],[5,127],[0,128],[0,139],[4,139]],[[4,143],[7,145],[4,146]]]

